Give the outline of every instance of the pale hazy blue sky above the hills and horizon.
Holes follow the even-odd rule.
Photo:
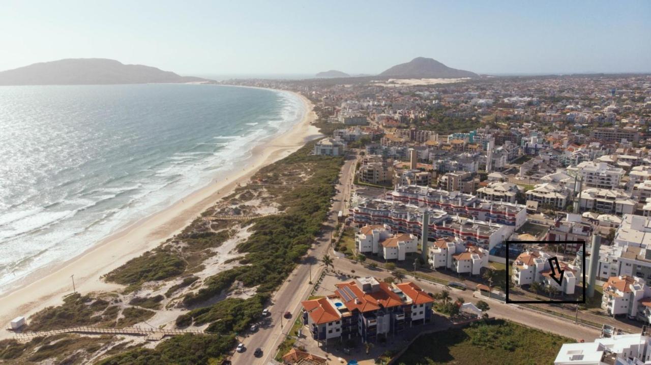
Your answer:
[[[179,74],[651,72],[651,1],[3,1],[0,70],[102,57]]]

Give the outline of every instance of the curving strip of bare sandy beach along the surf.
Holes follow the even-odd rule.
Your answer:
[[[117,290],[121,286],[104,282],[102,275],[174,236],[202,211],[229,195],[238,183],[247,182],[258,169],[282,159],[309,139],[318,137],[318,130],[311,125],[316,118],[313,105],[307,98],[300,97],[307,111],[303,120],[281,135],[256,146],[253,157],[242,170],[232,172],[224,180],[220,176],[211,185],[179,197],[169,208],[130,224],[67,262],[36,271],[25,278],[18,288],[3,293],[0,296],[0,308],[3,308],[0,323],[3,328],[8,328],[9,322],[16,316],[27,317],[46,306],[61,304],[62,296],[73,291],[73,275],[76,290],[80,293]],[[12,332],[0,331],[0,338],[10,336]]]

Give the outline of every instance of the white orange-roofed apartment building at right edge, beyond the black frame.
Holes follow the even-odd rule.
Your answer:
[[[629,318],[637,318],[638,312],[643,315],[645,306],[643,299],[651,299],[651,289],[646,286],[643,278],[618,276],[610,277],[603,283],[602,309],[609,316],[625,314]]]

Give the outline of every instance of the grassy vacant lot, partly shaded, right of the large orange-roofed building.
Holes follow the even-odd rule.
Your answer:
[[[494,319],[421,336],[396,364],[552,364],[567,342],[574,340]]]

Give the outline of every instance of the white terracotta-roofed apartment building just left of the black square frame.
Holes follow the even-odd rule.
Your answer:
[[[429,248],[428,264],[434,269],[445,267],[458,274],[479,275],[482,267],[488,267],[488,250],[464,245],[458,238],[439,238]]]

